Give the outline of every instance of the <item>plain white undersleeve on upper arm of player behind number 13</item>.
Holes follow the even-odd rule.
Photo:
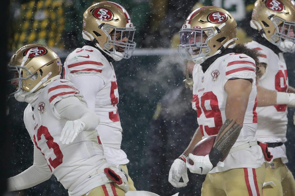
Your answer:
[[[97,75],[81,75],[73,78],[71,82],[83,95],[85,101],[87,102],[88,109],[91,112],[94,112],[96,94],[104,87],[104,80]]]

